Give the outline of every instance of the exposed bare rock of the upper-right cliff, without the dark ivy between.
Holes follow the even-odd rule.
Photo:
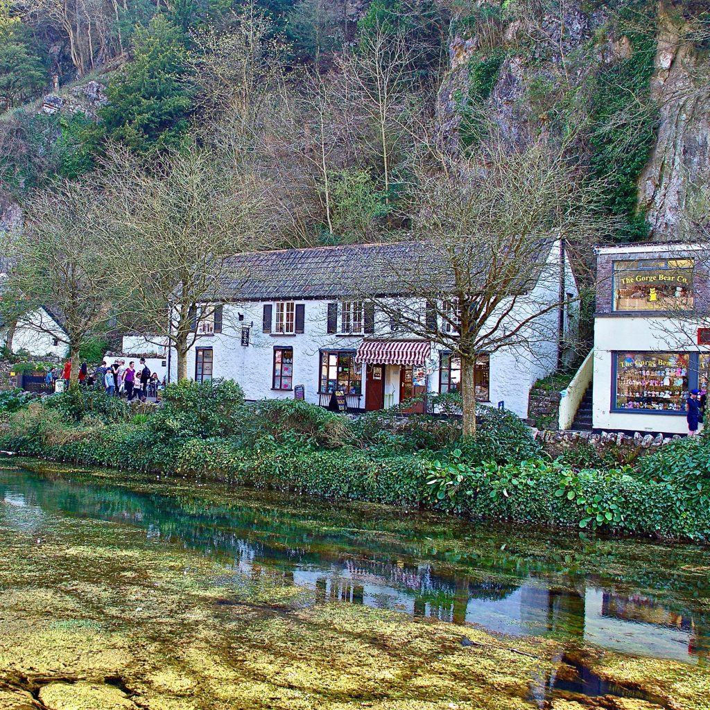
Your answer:
[[[561,14],[515,16],[506,15],[510,4],[488,3],[497,8],[493,40],[490,21],[455,18],[449,72],[437,104],[439,146],[452,153],[466,147],[466,112],[474,109],[512,145],[530,136],[560,141],[572,135],[572,152],[589,158],[595,84],[602,72],[632,57],[630,37],[638,31],[635,21],[618,21],[603,4],[594,5],[589,10],[589,4],[570,1]],[[658,121],[655,146],[638,176],[638,205],[657,241],[681,236],[695,186],[706,185],[710,175],[710,57],[694,16],[692,0],[649,1],[640,30],[656,40],[655,70],[646,88],[655,103],[649,110],[657,111]],[[498,75],[475,107],[476,66],[495,51],[504,56]],[[630,120],[626,129],[632,143],[634,124]]]

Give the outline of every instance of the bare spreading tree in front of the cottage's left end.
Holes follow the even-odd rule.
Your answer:
[[[269,244],[276,213],[267,209],[268,192],[255,176],[195,148],[150,168],[114,149],[103,180],[102,232],[128,295],[122,322],[167,339],[183,379],[188,351],[229,300],[222,290],[228,258]],[[229,278],[239,279],[233,271]]]

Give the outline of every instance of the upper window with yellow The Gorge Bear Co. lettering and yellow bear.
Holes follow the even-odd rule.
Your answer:
[[[692,310],[692,259],[634,259],[615,261],[613,310]]]

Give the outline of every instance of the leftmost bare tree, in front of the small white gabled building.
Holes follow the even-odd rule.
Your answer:
[[[60,314],[65,336],[42,317],[28,327],[65,342],[74,373],[80,347],[104,330],[120,302],[114,264],[96,239],[99,214],[102,197],[87,180],[35,193],[24,205],[23,233],[7,280],[7,296],[22,304],[22,312],[47,307]]]

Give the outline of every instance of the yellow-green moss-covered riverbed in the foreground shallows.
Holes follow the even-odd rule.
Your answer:
[[[3,710],[710,708],[698,663],[327,603],[285,565],[246,569],[184,535],[156,541],[128,499],[121,523],[28,497],[0,501]],[[376,537],[370,523],[363,535]],[[465,540],[448,544],[465,553]]]

